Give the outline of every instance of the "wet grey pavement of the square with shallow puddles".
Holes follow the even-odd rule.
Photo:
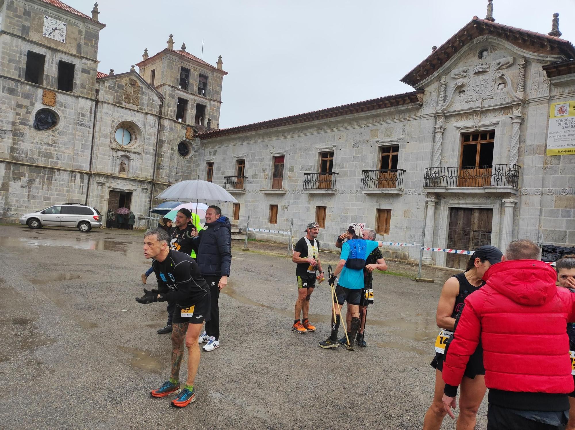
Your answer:
[[[295,264],[235,243],[232,277],[220,296],[221,346],[202,352],[196,402],[172,409],[171,399],[149,394],[168,377],[170,336],[156,334],[165,306],[134,300],[150,267],[141,236],[0,226],[0,428],[422,427],[446,272],[424,272],[436,283],[375,274],[368,347],[322,350],[317,342],[329,335],[331,312],[327,282],[310,304],[317,331],[294,333]],[[335,267],[335,254],[322,258]],[[477,428],[485,428],[485,418],[484,401]],[[442,429],[453,428],[447,417]]]

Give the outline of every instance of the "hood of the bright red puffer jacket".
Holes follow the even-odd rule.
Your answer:
[[[493,264],[483,280],[521,305],[540,306],[557,294],[557,274],[540,260],[508,260]]]

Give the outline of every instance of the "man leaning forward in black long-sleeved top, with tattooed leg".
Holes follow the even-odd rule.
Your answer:
[[[144,289],[142,304],[167,301],[173,305],[172,361],[170,379],[151,391],[152,397],[179,394],[173,406],[187,406],[196,400],[194,378],[200,363],[198,336],[205,319],[210,315],[210,293],[196,262],[183,252],[168,247],[170,237],[163,229],[148,230],[144,234],[144,256],[152,258],[152,267],[158,280],[158,290]],[[184,343],[187,347],[187,382],[179,383],[179,368],[183,358]]]

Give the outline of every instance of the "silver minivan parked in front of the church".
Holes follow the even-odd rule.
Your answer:
[[[63,203],[39,212],[26,213],[20,217],[20,224],[30,228],[42,228],[44,225],[74,227],[81,232],[89,232],[102,226],[102,216],[91,206]]]

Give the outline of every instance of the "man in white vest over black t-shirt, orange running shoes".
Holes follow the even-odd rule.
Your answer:
[[[298,333],[316,330],[313,325],[309,324],[308,315],[309,298],[316,286],[316,278],[323,278],[320,262],[320,243],[316,240],[319,231],[320,225],[315,221],[310,222],[305,229],[305,236],[298,240],[293,248],[292,261],[297,263],[297,301],[296,317],[293,321],[292,330]],[[319,270],[319,277],[316,276],[317,270]],[[300,320],[300,313],[302,314],[302,320]]]

